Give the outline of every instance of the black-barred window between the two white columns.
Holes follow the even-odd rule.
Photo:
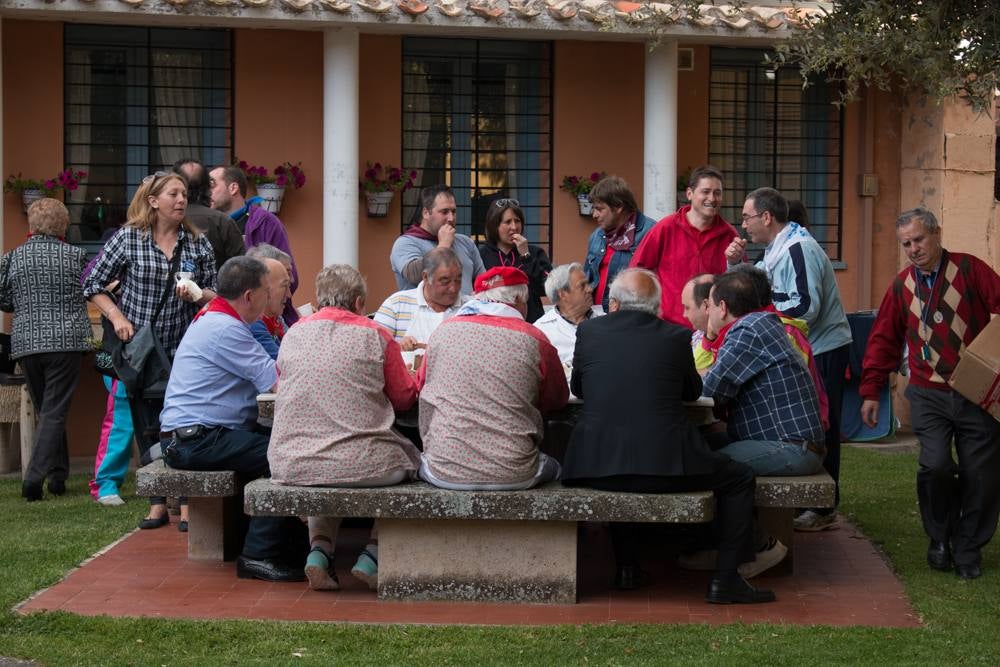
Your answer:
[[[483,233],[493,201],[524,210],[524,235],[551,255],[551,45],[403,40],[403,168],[419,186],[455,191],[458,231]],[[403,194],[402,227],[419,220],[419,187]]]

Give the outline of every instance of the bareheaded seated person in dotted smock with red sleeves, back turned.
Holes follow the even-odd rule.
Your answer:
[[[392,334],[365,317],[367,287],[353,267],[316,277],[320,310],[288,330],[278,353],[280,381],[267,458],[271,480],[297,486],[390,486],[415,476],[420,455],[393,429],[417,385]],[[309,585],[338,590],[333,570],[339,518],[309,517]],[[351,574],[375,588],[373,539]]]

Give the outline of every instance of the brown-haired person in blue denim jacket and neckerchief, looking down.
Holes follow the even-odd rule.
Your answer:
[[[590,191],[590,201],[598,227],[587,242],[587,260],[583,266],[594,290],[594,303],[607,312],[608,286],[619,271],[628,268],[632,254],[656,222],[642,214],[628,183],[619,176],[598,181]],[[602,267],[605,257],[607,264]]]

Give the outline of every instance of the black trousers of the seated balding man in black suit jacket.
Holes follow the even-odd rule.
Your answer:
[[[585,486],[602,491],[627,493],[685,493],[713,491],[715,493],[715,543],[719,550],[715,571],[718,574],[736,572],[741,563],[754,559],[753,503],[756,481],[753,470],[745,463],[728,461],[715,474],[659,477],[654,475],[612,475],[587,479],[564,480],[567,486]],[[643,524],[612,523],[611,541],[615,560],[622,565],[639,562],[637,532]]]

